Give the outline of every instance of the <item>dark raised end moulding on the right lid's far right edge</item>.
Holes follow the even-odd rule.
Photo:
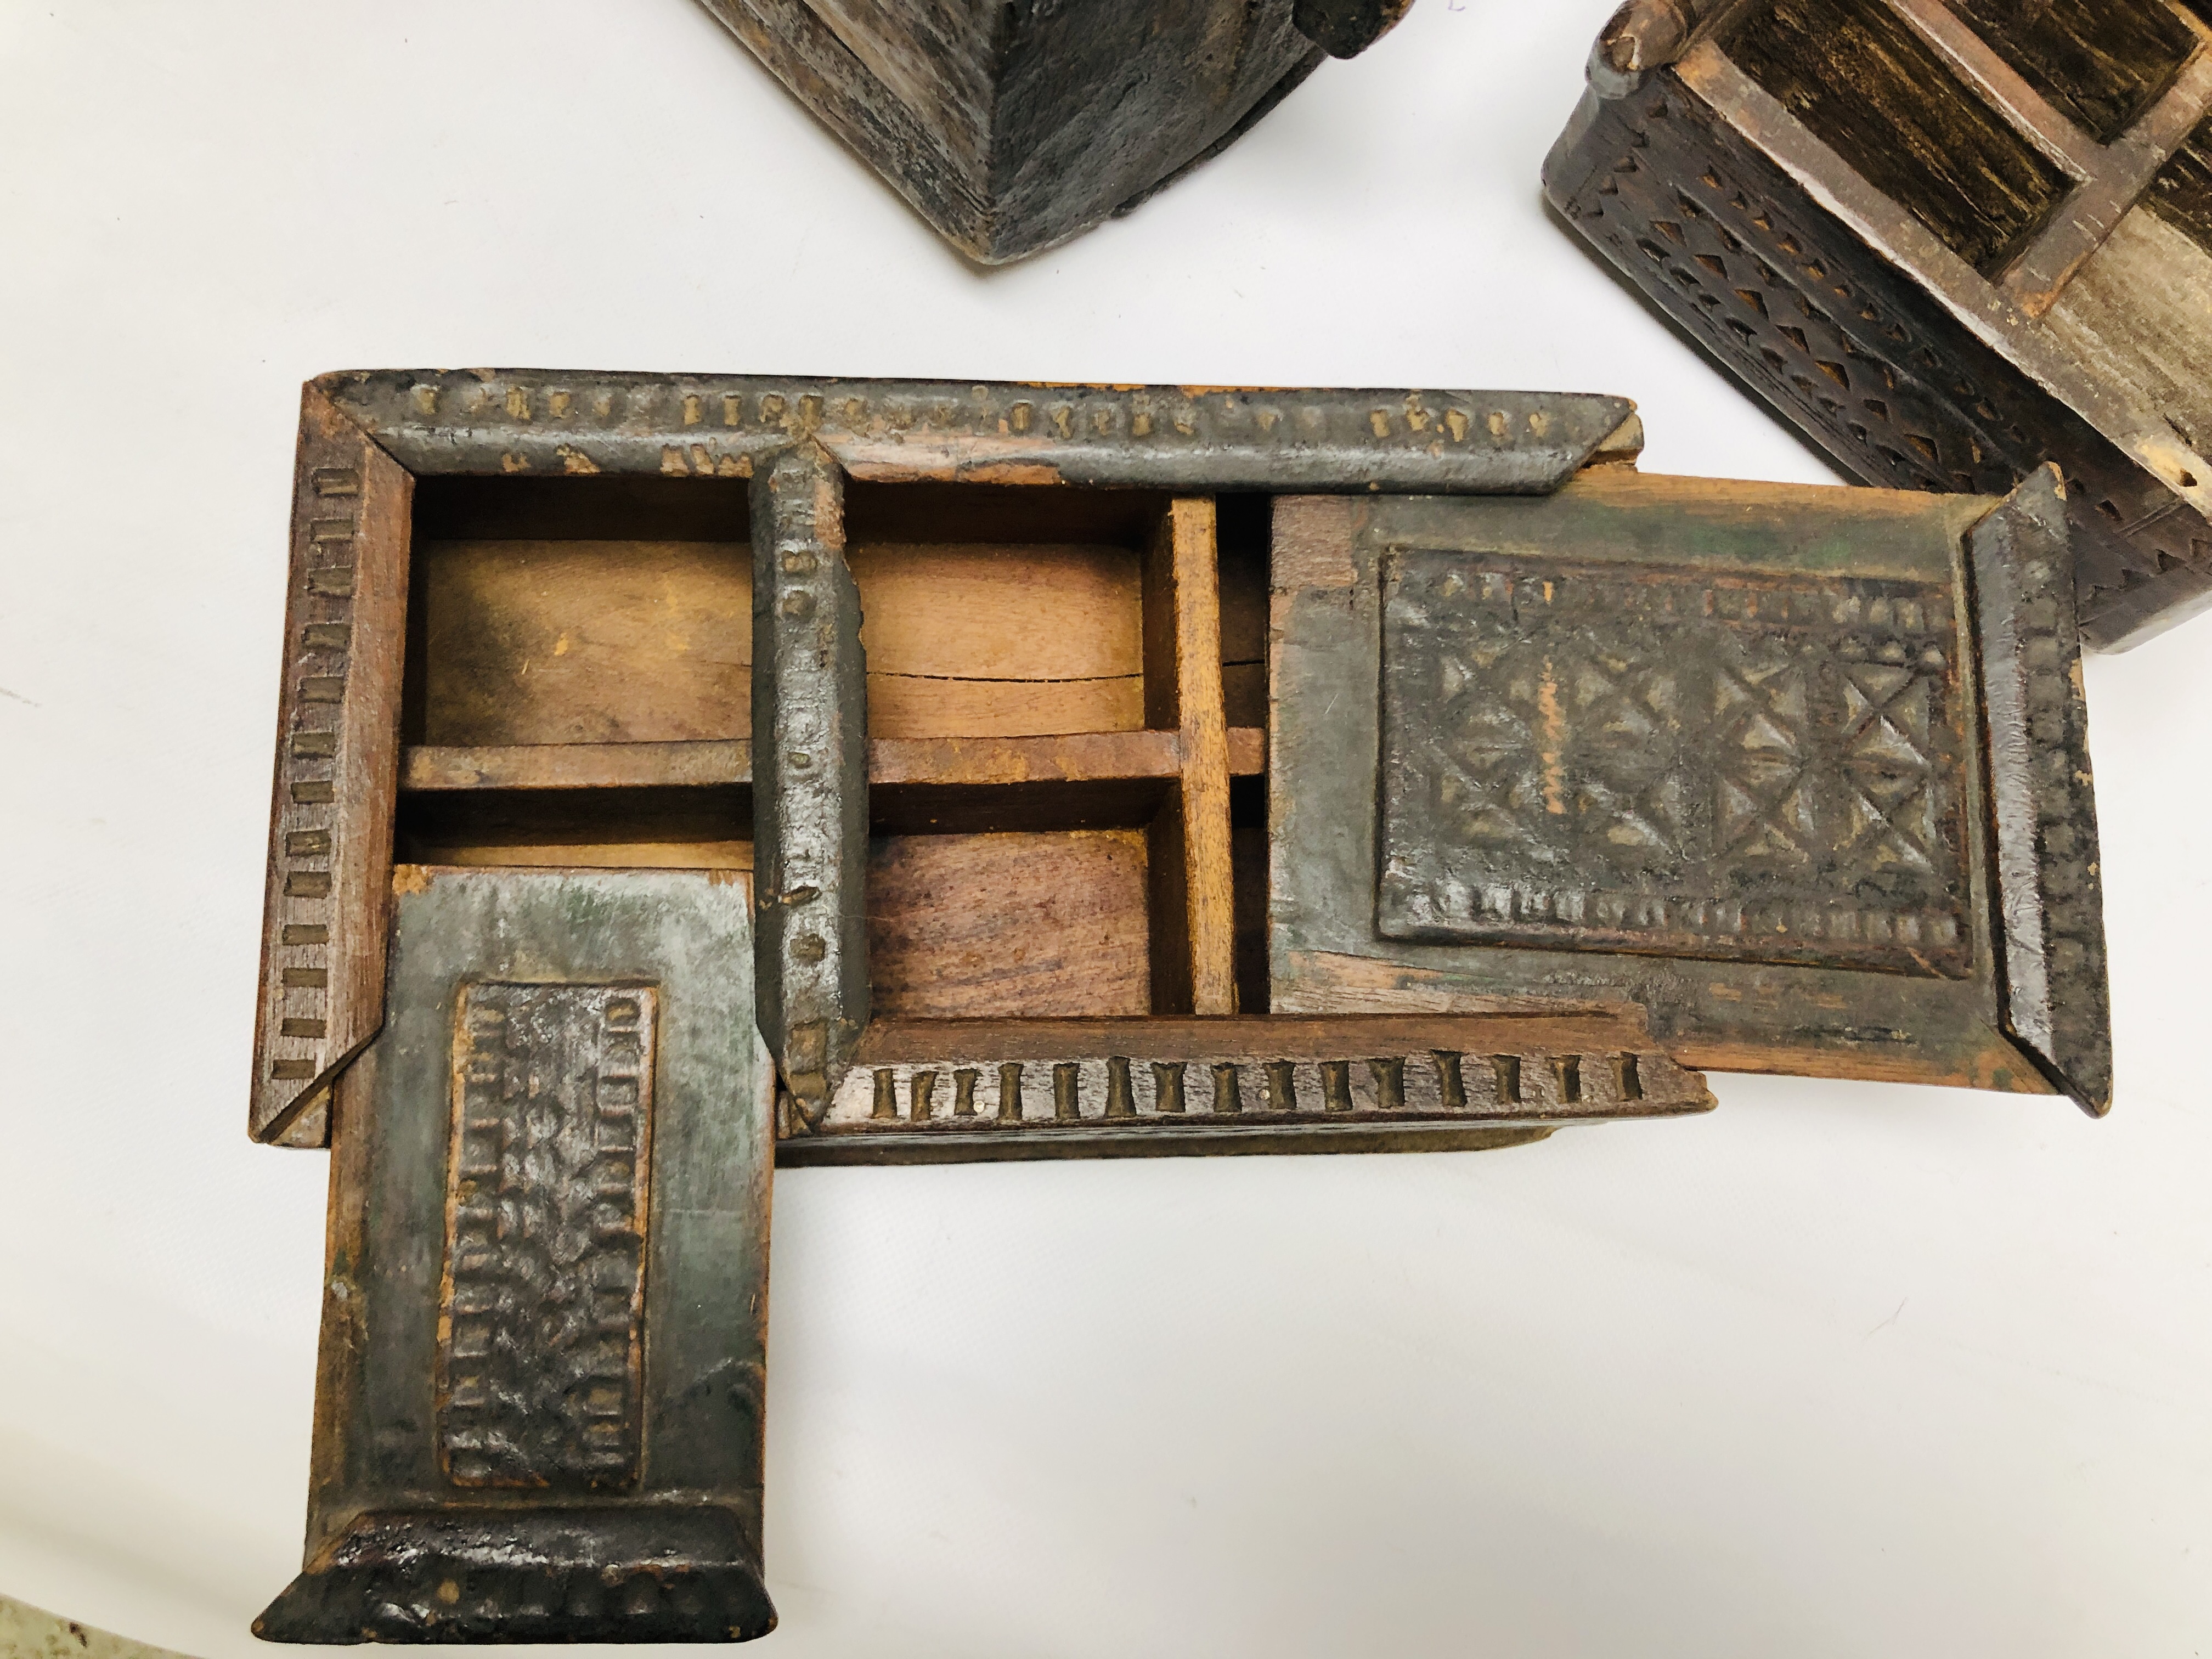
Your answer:
[[[2073,613],[2066,487],[2044,467],[1969,535],[2004,949],[2004,1024],[2093,1117],[2112,1110],[2112,993]]]

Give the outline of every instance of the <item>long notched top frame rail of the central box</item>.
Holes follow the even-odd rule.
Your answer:
[[[1548,493],[1617,447],[1595,394],[356,369],[316,385],[418,476],[752,478],[818,442],[883,482]]]

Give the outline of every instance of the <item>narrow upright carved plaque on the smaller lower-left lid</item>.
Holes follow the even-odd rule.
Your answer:
[[[456,1486],[639,1473],[657,991],[467,984],[438,1307]]]

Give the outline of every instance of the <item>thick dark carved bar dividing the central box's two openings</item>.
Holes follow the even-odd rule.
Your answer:
[[[867,1026],[867,653],[843,504],[818,445],[752,489],[757,998],[801,1117]]]

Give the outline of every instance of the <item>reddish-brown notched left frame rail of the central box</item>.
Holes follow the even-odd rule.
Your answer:
[[[301,400],[248,1135],[330,1139],[383,1026],[414,478],[319,387]]]

